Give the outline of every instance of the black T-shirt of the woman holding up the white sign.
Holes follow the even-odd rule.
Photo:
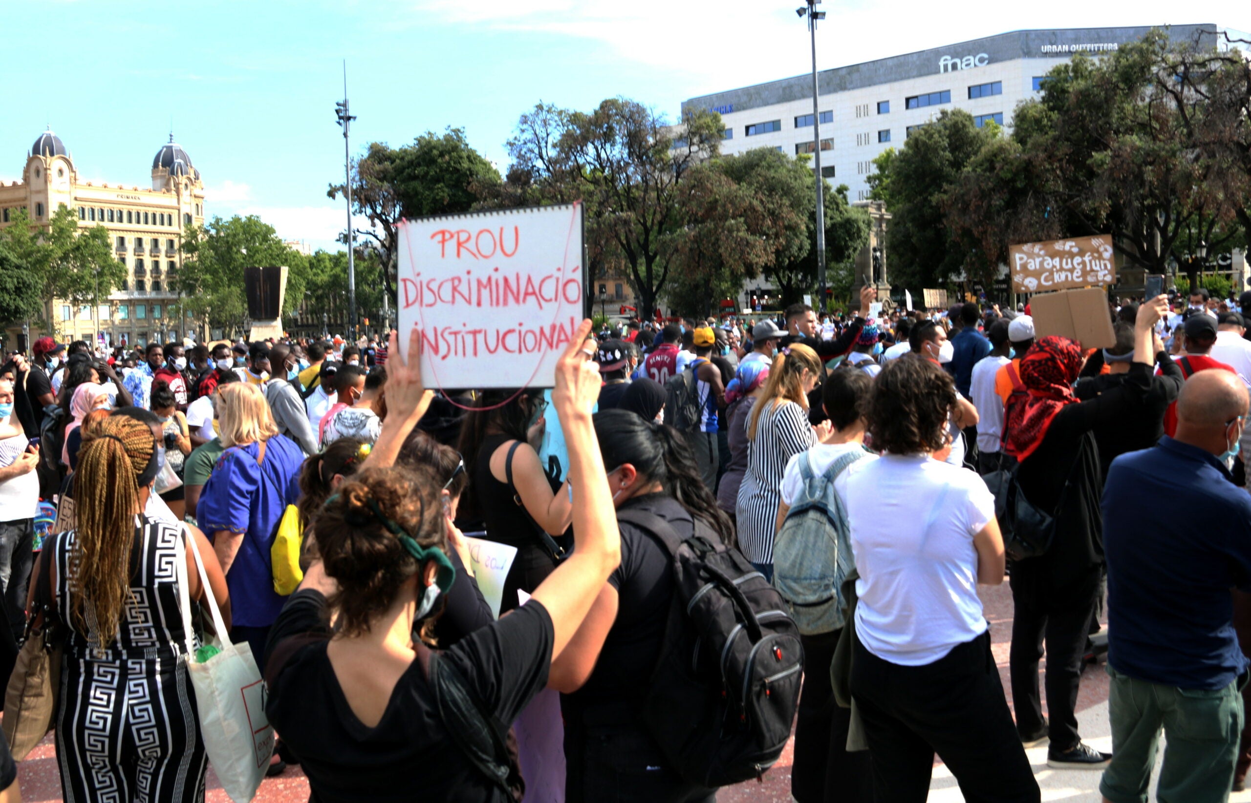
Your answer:
[[[293,594],[273,625],[266,658],[289,637],[328,633],[325,608],[317,590]],[[455,663],[489,712],[512,723],[547,685],[553,639],[547,609],[530,600],[444,650],[442,659]],[[419,660],[395,684],[378,724],[368,728],[352,713],[327,657],[327,643],[300,647],[281,667],[266,672],[265,713],[299,755],[310,802],[507,803],[503,789],[469,762],[443,725]]]

